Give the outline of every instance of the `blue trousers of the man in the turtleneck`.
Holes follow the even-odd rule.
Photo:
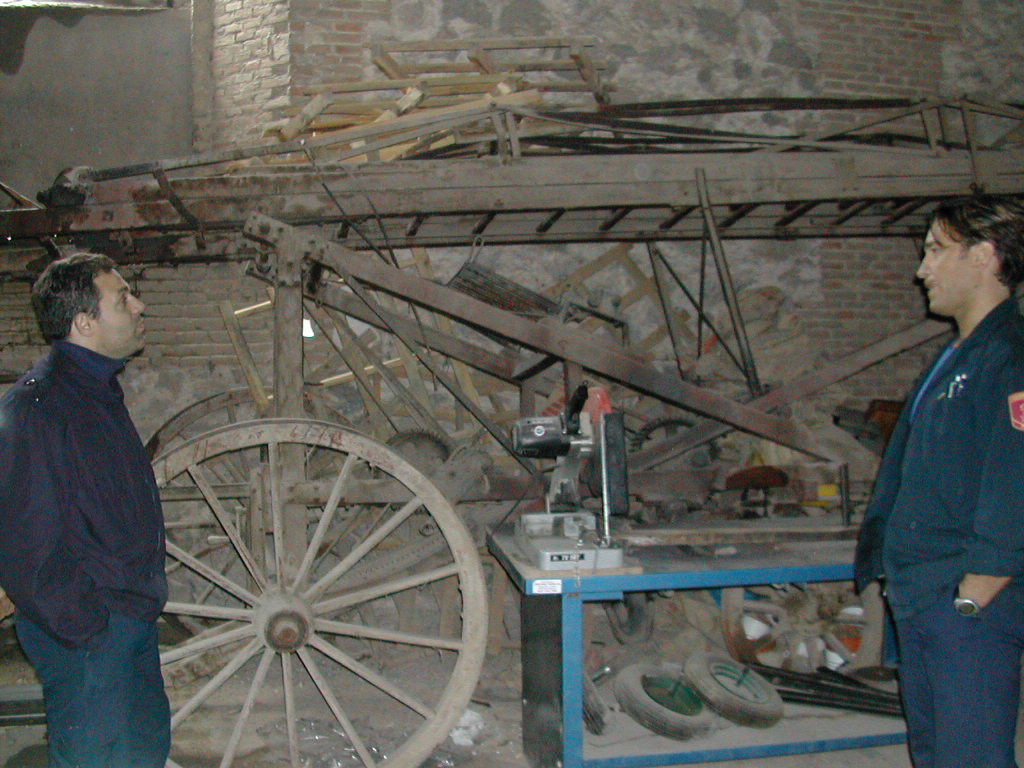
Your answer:
[[[89,648],[66,648],[24,615],[15,629],[43,684],[50,768],[164,768],[170,710],[156,625],[112,613]]]

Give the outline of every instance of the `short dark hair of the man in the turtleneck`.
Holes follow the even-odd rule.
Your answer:
[[[32,306],[46,341],[67,339],[75,315],[99,314],[96,275],[117,268],[99,253],[76,253],[51,261],[32,287]]]

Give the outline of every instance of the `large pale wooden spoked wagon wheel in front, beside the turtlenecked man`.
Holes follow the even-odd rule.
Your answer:
[[[221,427],[154,468],[165,612],[189,630],[162,653],[179,682],[169,765],[212,752],[221,768],[300,768],[323,734],[355,765],[429,757],[476,686],[487,615],[476,546],[437,487],[383,443],[310,420]],[[421,604],[417,627],[388,610],[399,597]]]

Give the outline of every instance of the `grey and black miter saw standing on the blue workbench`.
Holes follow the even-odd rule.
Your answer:
[[[517,421],[512,446],[523,457],[556,460],[546,511],[516,521],[516,543],[530,563],[543,570],[621,567],[623,548],[612,544],[611,518],[629,512],[626,429],[607,392],[581,384],[563,413]],[[599,468],[600,513],[585,509],[580,494],[588,460],[592,470]]]

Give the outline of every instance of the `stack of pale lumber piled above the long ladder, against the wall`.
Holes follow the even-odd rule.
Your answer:
[[[523,132],[565,126],[517,120],[502,108],[607,103],[605,61],[590,38],[495,38],[376,43],[384,77],[302,88],[266,135],[315,139],[332,161],[400,160],[453,144],[498,141],[518,154]],[[330,150],[325,151],[323,147]]]

